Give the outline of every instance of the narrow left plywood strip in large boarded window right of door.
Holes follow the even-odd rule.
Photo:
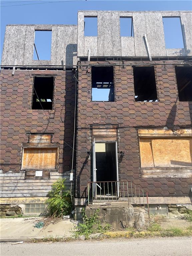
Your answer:
[[[154,167],[152,144],[150,138],[139,138],[141,167]]]

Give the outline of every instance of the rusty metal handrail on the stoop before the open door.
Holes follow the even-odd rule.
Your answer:
[[[87,188],[88,205],[90,204],[90,201],[102,203],[118,202],[124,199],[123,201],[127,201],[128,205],[131,202],[132,204],[134,202],[137,206],[144,208],[148,211],[148,216],[150,218],[148,192],[133,183],[131,180],[89,181]],[[144,197],[147,199],[147,209],[145,208]]]

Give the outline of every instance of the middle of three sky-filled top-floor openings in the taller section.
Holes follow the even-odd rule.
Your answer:
[[[121,36],[134,36],[133,35],[133,18],[120,17],[120,35]]]

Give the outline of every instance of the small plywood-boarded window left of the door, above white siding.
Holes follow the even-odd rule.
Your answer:
[[[22,169],[56,169],[57,148],[24,148]]]

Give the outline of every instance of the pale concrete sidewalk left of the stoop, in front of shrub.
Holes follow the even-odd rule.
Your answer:
[[[70,230],[75,227],[78,221],[67,219],[57,223],[50,223],[42,228],[34,227],[42,217],[31,218],[2,218],[0,219],[1,241],[30,241],[45,237],[69,237]]]

